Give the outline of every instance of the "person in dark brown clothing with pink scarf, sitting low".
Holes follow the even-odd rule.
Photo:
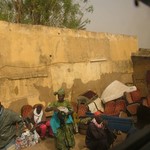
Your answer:
[[[108,150],[109,143],[105,132],[105,123],[100,116],[95,116],[89,122],[85,143],[90,150]]]

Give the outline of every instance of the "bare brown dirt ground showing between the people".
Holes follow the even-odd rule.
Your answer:
[[[118,134],[117,139],[112,146],[121,143],[125,137],[125,133]],[[75,141],[76,145],[72,150],[88,150],[85,146],[85,135],[79,133],[75,134]],[[40,143],[28,147],[25,150],[55,150],[54,138],[47,137],[45,140],[40,141]]]

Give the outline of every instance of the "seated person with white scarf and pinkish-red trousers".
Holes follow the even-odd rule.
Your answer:
[[[42,104],[37,104],[33,107],[33,111],[29,115],[34,128],[39,133],[40,138],[43,140],[46,136],[46,131],[48,129],[49,136],[53,137],[53,132],[50,126],[50,121],[46,120],[46,115],[43,110]]]

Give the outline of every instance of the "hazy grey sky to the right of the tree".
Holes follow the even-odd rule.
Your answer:
[[[150,7],[134,0],[90,0],[94,11],[87,14],[91,20],[86,30],[111,34],[133,35],[139,48],[150,49]]]

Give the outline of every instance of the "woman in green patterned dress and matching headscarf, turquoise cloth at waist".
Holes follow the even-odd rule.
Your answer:
[[[46,112],[54,111],[50,124],[55,136],[57,150],[69,150],[75,146],[73,133],[73,109],[69,101],[65,100],[63,88],[54,93],[57,101],[50,103],[45,109]]]

